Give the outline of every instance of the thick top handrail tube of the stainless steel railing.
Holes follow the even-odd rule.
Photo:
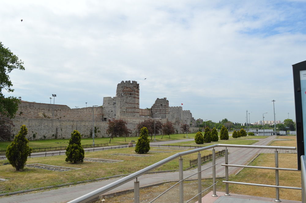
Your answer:
[[[133,179],[136,179],[137,177],[141,176],[141,175],[144,175],[145,173],[155,169],[155,168],[158,168],[159,166],[162,166],[163,164],[166,164],[178,157],[182,157],[182,156],[185,156],[185,155],[188,155],[188,154],[192,154],[192,153],[196,153],[196,152],[200,152],[200,151],[203,151],[203,150],[207,150],[207,149],[211,149],[211,148],[215,148],[215,147],[238,147],[238,148],[255,148],[255,149],[296,149],[296,147],[285,147],[285,146],[258,146],[258,145],[228,145],[228,144],[214,144],[214,145],[210,145],[210,146],[205,146],[205,147],[201,147],[201,148],[198,148],[198,149],[192,149],[192,150],[188,150],[188,151],[185,151],[185,152],[179,152],[179,153],[176,153],[166,159],[163,159],[155,164],[152,164],[146,168],[143,168],[135,173],[132,173],[131,175],[128,175],[124,178],[121,178],[113,183],[110,183],[106,186],[103,186],[97,190],[94,190],[88,194],[85,194],[81,197],[78,197],[72,201],[69,201],[68,203],[85,203],[105,192],[108,192],[120,185],[123,185],[124,183],[127,183]]]

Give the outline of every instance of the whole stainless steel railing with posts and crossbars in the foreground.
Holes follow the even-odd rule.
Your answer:
[[[106,193],[107,191],[110,191],[124,183],[127,183],[133,179],[136,179],[136,181],[134,182],[134,202],[135,203],[139,203],[139,181],[138,181],[138,177],[141,176],[141,175],[144,175],[145,173],[147,172],[150,172],[151,170],[155,169],[155,168],[158,168],[159,166],[162,166],[163,164],[166,164],[174,159],[177,159],[179,158],[179,180],[180,182],[178,183],[179,184],[179,197],[180,197],[180,203],[183,203],[183,197],[184,197],[184,192],[183,192],[183,159],[182,157],[183,156],[186,156],[188,154],[192,154],[192,153],[198,153],[198,157],[201,157],[201,154],[200,152],[203,151],[203,150],[207,150],[207,149],[213,149],[212,152],[213,152],[213,159],[212,159],[212,170],[213,170],[213,196],[217,196],[216,195],[216,173],[215,173],[215,147],[239,147],[239,148],[253,148],[253,149],[296,149],[295,147],[283,147],[283,146],[253,146],[253,145],[226,145],[226,144],[215,144],[215,145],[210,145],[210,146],[205,146],[205,147],[202,147],[202,148],[198,148],[198,149],[192,149],[192,150],[188,150],[188,151],[185,151],[185,152],[179,152],[179,153],[176,153],[166,159],[163,159],[162,161],[159,161],[155,164],[152,164],[144,169],[141,169],[135,173],[132,173],[131,175],[128,175],[124,178],[121,178],[113,183],[110,183],[106,186],[103,186],[97,190],[94,190],[88,194],[85,194],[81,197],[78,197],[72,201],[69,201],[68,203],[85,203],[99,195],[102,195],[104,193]],[[277,150],[276,150],[277,152]],[[276,155],[277,156],[277,155]],[[200,160],[200,158],[198,158],[198,161]],[[234,183],[234,184],[242,184],[240,182],[230,182],[228,181],[228,167],[237,167],[238,165],[229,165],[228,164],[228,152],[227,152],[227,149],[226,149],[226,154],[225,154],[225,164],[222,164],[225,166],[225,170],[226,170],[226,180],[223,181],[226,183],[226,195],[230,195],[229,194],[229,191],[228,191],[228,184],[229,183]],[[278,170],[283,170],[283,168],[278,168],[278,159],[275,158],[275,162],[277,162],[277,165],[275,166],[275,168],[273,168],[275,171],[278,172]],[[199,203],[201,203],[201,193],[203,192],[202,189],[201,189],[201,164],[198,164],[198,172],[195,173],[195,174],[198,174],[198,194],[196,196],[198,196],[198,201]],[[239,165],[239,167],[248,167],[248,168],[251,168],[251,166],[242,166],[242,165]],[[266,169],[272,169],[272,168],[268,168],[266,167]],[[286,169],[287,170],[287,169]],[[288,169],[289,170],[289,169]],[[290,169],[290,170],[297,170],[297,169]],[[193,174],[193,175],[195,175]],[[277,175],[277,181],[276,181],[276,185],[260,185],[260,184],[252,184],[252,183],[243,183],[245,185],[256,185],[256,186],[273,186],[275,187],[276,189],[279,189],[279,188],[288,188],[288,189],[301,189],[301,188],[294,188],[294,187],[285,187],[285,186],[278,186],[278,175]],[[205,191],[205,190],[204,190]],[[161,196],[161,195],[160,195]],[[195,197],[196,197],[195,196]],[[276,190],[276,200],[279,200],[279,197],[278,197],[278,190]],[[193,197],[194,198],[194,197]],[[193,199],[192,198],[192,199]],[[191,199],[190,199],[191,200]],[[188,200],[188,201],[190,201]]]

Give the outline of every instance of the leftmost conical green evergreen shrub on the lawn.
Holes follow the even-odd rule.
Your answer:
[[[24,164],[32,152],[32,148],[28,146],[29,141],[25,137],[27,134],[28,129],[22,125],[13,142],[6,149],[6,158],[17,171],[24,168]]]

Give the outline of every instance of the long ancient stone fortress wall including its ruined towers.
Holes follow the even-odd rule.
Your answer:
[[[122,81],[117,85],[116,97],[104,97],[103,105],[97,107],[70,109],[67,105],[21,101],[12,119],[15,125],[12,135],[20,131],[21,125],[26,125],[29,139],[70,138],[73,130],[80,131],[83,137],[91,137],[93,114],[97,137],[108,137],[106,128],[109,119],[125,120],[134,135],[136,125],[149,118],[160,118],[162,123],[171,121],[179,133],[180,124],[191,121],[194,124],[189,110],[183,110],[181,106],[169,107],[166,98],[157,98],[151,109],[139,109],[139,84]]]

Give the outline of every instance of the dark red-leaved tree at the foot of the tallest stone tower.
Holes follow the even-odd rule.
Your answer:
[[[108,120],[108,127],[106,129],[106,134],[110,135],[110,141],[112,138],[120,136],[120,135],[125,135],[129,136],[131,133],[131,130],[129,130],[128,127],[126,127],[127,122],[125,122],[122,119],[113,119],[113,120]],[[126,142],[126,140],[125,140]]]

